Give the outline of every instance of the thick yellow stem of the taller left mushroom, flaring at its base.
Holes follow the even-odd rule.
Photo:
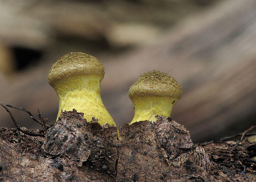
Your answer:
[[[102,76],[77,75],[55,81],[55,88],[59,97],[59,112],[72,111],[83,112],[84,118],[90,121],[92,117],[98,118],[99,123],[114,124],[113,118],[105,108],[100,97],[100,82]]]

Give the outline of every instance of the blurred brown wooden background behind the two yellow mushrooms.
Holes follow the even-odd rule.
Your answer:
[[[172,117],[195,143],[242,132],[256,124],[255,9],[254,0],[1,0],[0,101],[55,121],[48,71],[82,51],[105,67],[102,100],[119,127],[133,118],[130,85],[155,69],[182,86]],[[3,108],[0,125],[14,127]]]

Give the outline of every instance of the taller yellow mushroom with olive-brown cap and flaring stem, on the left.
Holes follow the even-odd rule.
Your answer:
[[[61,111],[83,112],[86,120],[98,118],[99,123],[115,124],[100,97],[100,82],[104,77],[104,67],[97,58],[71,52],[63,55],[52,65],[48,74],[48,83],[59,97]]]

